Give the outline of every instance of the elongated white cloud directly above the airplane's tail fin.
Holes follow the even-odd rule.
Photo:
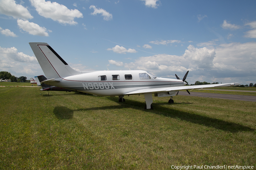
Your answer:
[[[31,35],[39,35],[39,36],[46,36],[46,37],[49,36],[49,34],[47,33],[47,29],[45,27],[40,27],[38,24],[29,22],[29,21],[24,21],[21,19],[18,19],[17,23],[20,29],[28,32]]]

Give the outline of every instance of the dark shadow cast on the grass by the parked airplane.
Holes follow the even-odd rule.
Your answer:
[[[48,95],[47,95],[48,96]],[[109,100],[118,102],[118,97],[108,97]],[[184,103],[173,103],[172,105],[179,105]],[[186,104],[192,104],[192,103],[186,103]],[[73,112],[74,111],[93,111],[93,110],[108,110],[108,109],[125,109],[125,108],[134,108],[141,110],[141,106],[145,105],[145,103],[142,103],[140,101],[133,101],[130,99],[126,99],[126,102],[119,103],[119,105],[111,105],[111,106],[104,106],[104,107],[92,107],[92,108],[85,108],[85,109],[75,109],[71,110],[64,106],[57,106],[53,109],[53,113],[58,119],[72,119],[73,118]],[[239,131],[255,131],[255,129],[243,126],[240,124],[236,124],[233,122],[228,122],[224,120],[220,120],[217,118],[210,118],[203,115],[193,114],[189,112],[183,112],[172,108],[166,108],[163,107],[163,105],[168,105],[166,103],[154,103],[154,109],[153,110],[145,110],[146,112],[152,112],[154,114],[163,115],[170,118],[175,118],[178,120],[183,120],[186,122],[191,122],[207,127],[212,127],[216,129],[220,129],[223,131],[229,131],[232,133],[236,133]]]

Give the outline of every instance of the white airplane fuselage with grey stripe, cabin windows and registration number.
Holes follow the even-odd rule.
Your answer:
[[[93,71],[55,80],[59,82],[49,81],[46,84],[101,96],[120,96],[140,89],[184,85],[182,80],[155,77],[142,70]]]

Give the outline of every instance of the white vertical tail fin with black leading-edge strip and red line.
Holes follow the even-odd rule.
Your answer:
[[[29,42],[29,45],[48,79],[82,73],[72,69],[47,43]]]

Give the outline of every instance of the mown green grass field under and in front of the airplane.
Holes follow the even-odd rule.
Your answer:
[[[256,102],[0,88],[0,169],[256,166]]]

